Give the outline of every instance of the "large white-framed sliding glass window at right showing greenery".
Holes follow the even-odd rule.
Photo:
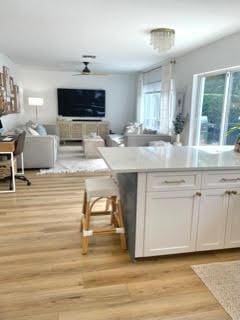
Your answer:
[[[234,144],[240,131],[227,131],[240,122],[240,72],[200,76],[198,83],[196,145]]]

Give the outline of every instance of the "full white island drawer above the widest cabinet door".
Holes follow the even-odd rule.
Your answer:
[[[169,191],[198,189],[201,174],[196,172],[149,173],[147,175],[147,191]]]

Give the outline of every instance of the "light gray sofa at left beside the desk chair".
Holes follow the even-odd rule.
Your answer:
[[[26,136],[24,167],[26,169],[53,168],[57,160],[59,138],[56,125],[44,125],[46,136]]]

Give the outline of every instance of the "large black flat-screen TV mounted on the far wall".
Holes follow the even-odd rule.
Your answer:
[[[57,89],[58,114],[63,117],[105,117],[105,90]]]

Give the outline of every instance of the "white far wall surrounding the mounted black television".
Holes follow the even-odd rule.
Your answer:
[[[35,119],[35,110],[28,106],[27,97],[44,98],[39,107],[39,121],[54,123],[57,117],[57,88],[83,88],[106,90],[106,120],[114,132],[121,132],[128,121],[135,120],[135,75],[79,76],[74,72],[43,71],[21,68],[19,76],[24,92],[24,115],[22,121]]]

